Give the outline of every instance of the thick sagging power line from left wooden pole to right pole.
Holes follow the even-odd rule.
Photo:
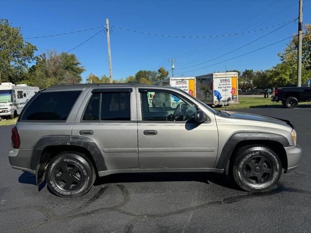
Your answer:
[[[124,31],[129,31],[129,32],[133,32],[133,33],[140,33],[140,34],[148,34],[148,35],[155,35],[155,36],[162,36],[162,37],[172,37],[172,38],[210,38],[210,37],[223,37],[223,36],[232,36],[232,35],[241,35],[241,34],[247,34],[247,33],[255,33],[255,32],[259,32],[259,31],[263,31],[263,30],[267,30],[270,28],[274,28],[277,27],[279,25],[282,25],[284,23],[278,23],[275,25],[272,25],[270,27],[265,27],[265,28],[261,28],[261,29],[257,29],[257,30],[252,30],[252,31],[247,31],[247,32],[242,32],[242,33],[231,33],[231,34],[222,34],[222,35],[190,35],[190,36],[185,36],[185,35],[164,35],[164,34],[156,34],[156,33],[146,33],[146,32],[140,32],[140,31],[136,31],[136,30],[131,30],[131,29],[127,29],[127,28],[121,28],[121,27],[116,27],[116,26],[111,26],[112,28],[117,28],[117,29],[121,29]]]

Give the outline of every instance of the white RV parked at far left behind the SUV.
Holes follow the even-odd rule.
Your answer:
[[[15,118],[20,114],[26,102],[39,91],[38,87],[27,84],[1,83],[0,85],[0,117]]]

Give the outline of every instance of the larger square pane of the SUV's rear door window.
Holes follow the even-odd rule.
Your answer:
[[[131,120],[131,93],[102,93],[101,120]]]

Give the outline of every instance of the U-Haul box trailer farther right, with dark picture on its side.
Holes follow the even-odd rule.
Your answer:
[[[219,72],[196,76],[196,98],[208,105],[238,102],[238,72]]]

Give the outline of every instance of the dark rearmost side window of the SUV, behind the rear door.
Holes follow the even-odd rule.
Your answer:
[[[81,91],[43,92],[23,113],[22,120],[66,120]]]

